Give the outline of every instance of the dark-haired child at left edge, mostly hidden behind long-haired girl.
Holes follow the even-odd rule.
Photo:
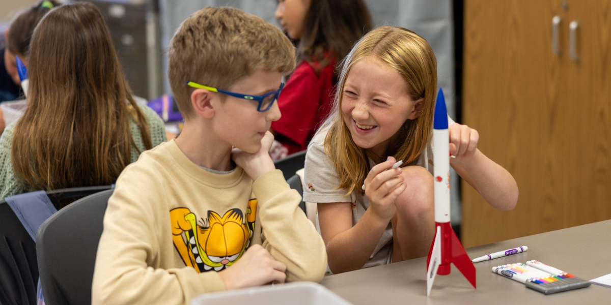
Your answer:
[[[27,54],[32,32],[43,16],[59,5],[55,0],[38,1],[16,16],[8,29],[4,30],[5,48],[0,49],[0,102],[13,101],[23,96],[21,81],[17,73],[16,56],[27,65]],[[0,109],[0,134],[4,130],[4,117]]]

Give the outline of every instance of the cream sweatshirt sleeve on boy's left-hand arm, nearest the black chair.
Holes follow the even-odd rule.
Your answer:
[[[139,163],[123,171],[108,201],[95,261],[92,304],[186,305],[202,293],[225,290],[213,271],[153,267],[159,264],[159,248],[167,247],[159,245],[156,237],[164,232],[166,204],[163,184],[159,184],[163,174],[134,166]]]

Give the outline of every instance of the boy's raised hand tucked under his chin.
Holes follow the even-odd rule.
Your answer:
[[[259,151],[249,154],[241,149],[233,148],[231,152],[233,162],[235,162],[241,168],[244,168],[246,174],[251,176],[252,181],[255,181],[262,174],[276,169],[274,161],[271,160],[271,157],[269,156],[269,148],[273,142],[274,135],[272,135],[269,131],[265,132],[265,135],[261,140],[261,149],[259,149]]]

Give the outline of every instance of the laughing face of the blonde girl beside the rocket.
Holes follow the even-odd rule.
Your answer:
[[[413,101],[397,71],[374,56],[354,63],[341,92],[342,117],[360,148],[382,156],[406,120],[420,115],[423,99]]]

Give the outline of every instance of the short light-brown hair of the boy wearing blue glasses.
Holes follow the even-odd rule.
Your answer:
[[[183,117],[192,115],[187,82],[230,90],[255,70],[287,75],[295,46],[276,26],[231,7],[207,7],[183,21],[170,41],[170,85]]]

